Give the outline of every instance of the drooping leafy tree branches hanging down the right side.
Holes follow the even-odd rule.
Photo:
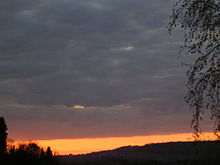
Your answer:
[[[218,0],[178,0],[168,29],[185,32],[183,50],[196,60],[187,71],[188,94],[185,101],[193,109],[192,127],[198,136],[200,121],[206,110],[220,131],[220,3]]]

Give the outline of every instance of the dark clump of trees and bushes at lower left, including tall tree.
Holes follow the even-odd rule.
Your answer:
[[[15,146],[7,143],[7,124],[0,117],[0,165],[58,165],[50,147],[44,149],[36,143]]]

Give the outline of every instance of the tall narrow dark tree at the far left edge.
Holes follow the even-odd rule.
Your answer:
[[[7,124],[3,117],[0,117],[0,155],[5,154],[7,149]]]

